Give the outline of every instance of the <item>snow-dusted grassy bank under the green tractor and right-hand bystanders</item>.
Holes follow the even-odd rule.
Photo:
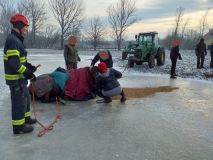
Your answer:
[[[212,72],[213,69],[210,69],[210,53],[205,57],[204,69],[197,69],[197,58],[194,54],[194,51],[191,50],[181,50],[181,55],[183,60],[177,61],[176,73],[178,77],[190,78],[196,80],[207,80],[213,81],[213,78],[206,78],[204,73]],[[127,64],[127,60],[123,61],[119,59],[121,53],[118,53],[118,59],[115,59],[115,66],[124,67]],[[166,60],[164,66],[155,66],[154,68],[149,68],[148,63],[143,63],[142,65],[134,65],[134,68],[128,68],[129,73],[146,73],[146,74],[158,74],[158,75],[168,75],[170,74],[171,61],[169,58],[169,51],[166,51]]]

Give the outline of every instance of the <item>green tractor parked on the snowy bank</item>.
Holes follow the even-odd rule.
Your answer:
[[[157,65],[162,66],[165,63],[165,50],[158,44],[158,33],[147,32],[135,35],[136,43],[129,43],[128,47],[122,52],[122,59],[128,59],[128,66],[134,64],[141,65],[148,62],[149,68]]]

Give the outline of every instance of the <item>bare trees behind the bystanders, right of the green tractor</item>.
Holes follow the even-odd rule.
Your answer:
[[[204,36],[210,26],[207,18],[211,9],[212,8],[207,8],[200,19],[197,19],[197,29],[191,29],[189,28],[191,18],[184,17],[185,8],[178,7],[176,10],[174,27],[168,30],[166,37],[161,40],[161,43],[168,49],[170,48],[172,39],[178,38],[182,41],[182,49],[194,49],[200,38]]]

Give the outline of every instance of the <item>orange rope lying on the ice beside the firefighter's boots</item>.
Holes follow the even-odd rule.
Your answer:
[[[48,126],[45,126],[43,125],[38,119],[37,119],[37,116],[36,116],[36,107],[35,107],[35,88],[34,88],[34,85],[33,85],[33,82],[31,82],[31,85],[32,85],[32,89],[31,89],[31,92],[32,92],[32,110],[33,110],[33,114],[34,114],[34,117],[35,119],[37,120],[37,123],[41,126],[41,128],[43,128],[41,131],[39,131],[37,133],[37,136],[38,137],[41,137],[43,136],[46,132],[48,132],[49,130],[53,130],[54,128],[54,124],[56,122],[58,122],[59,119],[61,119],[61,109],[60,109],[60,106],[59,106],[59,97],[56,96],[56,115],[55,115],[55,118],[53,120],[52,123],[50,123]]]

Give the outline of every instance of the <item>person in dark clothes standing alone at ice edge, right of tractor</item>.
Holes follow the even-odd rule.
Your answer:
[[[170,78],[172,79],[175,79],[177,76],[177,74],[175,73],[175,69],[176,69],[176,63],[178,58],[182,60],[181,54],[179,53],[179,45],[174,45],[170,51],[170,59],[172,62]]]

